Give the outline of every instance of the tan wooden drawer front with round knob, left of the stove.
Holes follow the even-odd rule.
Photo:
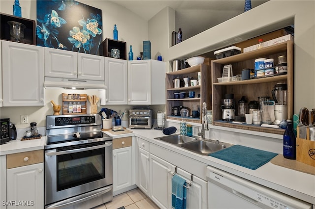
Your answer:
[[[6,156],[6,169],[44,162],[44,150],[9,154]]]

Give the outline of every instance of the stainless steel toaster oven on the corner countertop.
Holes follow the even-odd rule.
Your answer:
[[[152,126],[153,126],[152,109],[129,110],[130,129],[152,129]]]

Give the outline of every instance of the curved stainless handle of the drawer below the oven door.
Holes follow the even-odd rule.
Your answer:
[[[94,192],[89,192],[87,194],[79,195],[79,196],[72,197],[70,199],[55,203],[53,205],[48,206],[46,209],[63,209],[64,207],[69,207],[78,203],[85,202],[87,200],[91,200],[95,197],[101,196],[112,189],[113,189],[112,186],[106,186],[105,188],[97,189]]]

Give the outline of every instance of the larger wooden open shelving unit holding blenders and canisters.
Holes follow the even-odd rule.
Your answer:
[[[265,128],[261,126],[234,124],[221,120],[221,104],[225,94],[234,94],[235,104],[246,96],[248,101],[256,100],[260,96],[270,96],[271,90],[277,83],[287,83],[287,115],[288,119],[293,117],[293,41],[286,41],[273,46],[258,49],[252,52],[245,52],[233,56],[212,60],[212,105],[213,105],[213,125],[229,128],[261,131],[268,133],[283,134],[282,129]],[[233,75],[242,74],[242,69],[253,69],[254,60],[257,58],[273,58],[275,66],[277,65],[278,56],[286,55],[287,57],[287,74],[275,75],[272,77],[254,78],[249,80],[239,80],[230,82],[218,82],[222,77],[224,65],[231,64]],[[235,107],[237,109],[237,105]]]

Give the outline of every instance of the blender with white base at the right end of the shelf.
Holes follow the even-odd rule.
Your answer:
[[[271,91],[275,101],[275,125],[279,125],[282,120],[287,119],[287,83],[277,83]]]

